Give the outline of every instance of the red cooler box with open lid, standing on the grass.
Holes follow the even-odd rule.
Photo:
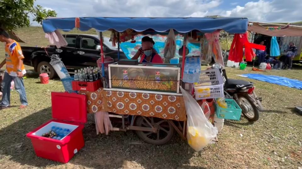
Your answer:
[[[87,122],[87,97],[76,93],[52,92],[52,120],[26,134],[36,155],[67,163],[84,146],[82,130]],[[60,140],[43,137],[53,126],[69,129]]]

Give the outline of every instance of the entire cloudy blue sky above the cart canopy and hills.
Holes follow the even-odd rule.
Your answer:
[[[301,0],[36,0],[35,4],[57,11],[58,17],[222,15],[259,22],[302,21]]]

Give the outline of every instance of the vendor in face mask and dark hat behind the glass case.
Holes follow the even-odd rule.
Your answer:
[[[131,59],[138,59],[141,56],[139,63],[159,63],[162,64],[163,59],[157,54],[153,48],[155,42],[152,38],[145,36],[142,38],[142,47],[138,49],[137,53]]]

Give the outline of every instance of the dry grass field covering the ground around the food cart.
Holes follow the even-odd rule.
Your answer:
[[[70,33],[75,33],[71,31]],[[91,31],[91,33],[94,33]],[[18,29],[17,34],[28,43],[46,46],[40,27]],[[0,44],[3,46],[3,44]],[[24,44],[22,44],[24,45]],[[4,56],[0,48],[0,55]],[[3,59],[3,57],[1,57]],[[32,69],[27,67],[27,69]],[[245,79],[236,74],[255,73],[226,69],[229,78]],[[302,80],[302,70],[271,70],[263,74]],[[51,119],[52,91],[63,91],[61,82],[39,83],[37,74],[25,80],[29,106],[20,110],[19,95],[12,92],[12,108],[0,110],[0,168],[294,168],[302,167],[302,117],[293,112],[302,105],[302,90],[273,85],[257,80],[256,93],[263,97],[266,111],[260,119],[249,123],[226,120],[219,141],[201,152],[194,152],[179,136],[164,146],[152,146],[131,131],[96,135],[94,116],[88,115],[83,131],[85,147],[67,164],[35,155],[26,133]]]

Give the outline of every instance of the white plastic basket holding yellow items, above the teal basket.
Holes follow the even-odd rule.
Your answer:
[[[203,70],[199,83],[194,84],[195,99],[212,99],[224,97],[223,79],[219,69]]]

